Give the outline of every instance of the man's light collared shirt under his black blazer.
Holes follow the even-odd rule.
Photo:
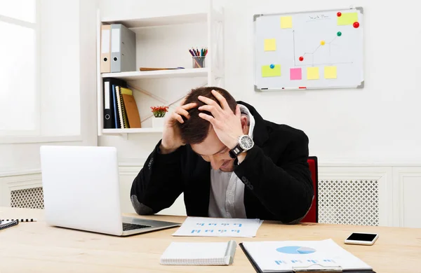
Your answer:
[[[239,104],[241,116],[250,124],[248,135],[253,138],[255,120],[246,106]],[[244,207],[244,183],[234,172],[210,169],[208,216],[215,218],[247,218]]]

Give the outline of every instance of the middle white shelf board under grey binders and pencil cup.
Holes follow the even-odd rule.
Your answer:
[[[139,80],[142,78],[193,78],[208,76],[208,69],[173,69],[156,71],[128,71],[119,73],[102,73],[102,78],[121,78],[123,80]]]

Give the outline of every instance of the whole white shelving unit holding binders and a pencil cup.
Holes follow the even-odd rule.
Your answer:
[[[128,140],[147,134],[150,137],[162,135],[162,128],[152,128],[152,123],[142,122],[143,128],[132,129],[104,129],[104,78],[125,80],[129,87],[142,93],[136,99],[145,99],[138,104],[139,113],[145,113],[154,104],[173,104],[173,100],[180,100],[183,94],[173,94],[173,84],[179,85],[180,91],[185,92],[197,86],[223,85],[224,63],[224,11],[222,7],[213,4],[215,0],[207,0],[206,5],[198,4],[189,7],[184,14],[175,9],[149,8],[140,9],[133,13],[114,12],[110,10],[101,16],[97,12],[97,108],[98,108],[98,136],[119,136]],[[204,2],[203,2],[204,3]],[[109,15],[109,16],[107,16]],[[119,73],[100,73],[101,65],[101,25],[122,24],[135,32],[136,38],[136,66],[131,70]],[[194,33],[194,35],[192,35]],[[207,46],[210,55],[205,68],[193,69],[187,48],[191,46]],[[172,64],[168,59],[173,60]],[[189,60],[189,61],[188,61]],[[187,62],[188,61],[188,62]],[[140,67],[175,67],[184,66],[185,69],[168,69],[156,71],[140,71]],[[221,86],[222,87],[222,86]],[[157,94],[151,90],[159,90]],[[139,93],[136,93],[139,95]],[[147,111],[147,113],[150,112]],[[152,116],[152,115],[151,115]],[[146,117],[145,117],[146,118]],[[149,125],[150,124],[150,125]]]

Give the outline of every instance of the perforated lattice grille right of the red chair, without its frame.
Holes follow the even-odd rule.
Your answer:
[[[378,181],[319,181],[319,223],[379,225],[379,209]]]

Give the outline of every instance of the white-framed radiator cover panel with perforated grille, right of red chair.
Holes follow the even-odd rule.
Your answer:
[[[393,226],[392,167],[319,166],[319,223]]]

